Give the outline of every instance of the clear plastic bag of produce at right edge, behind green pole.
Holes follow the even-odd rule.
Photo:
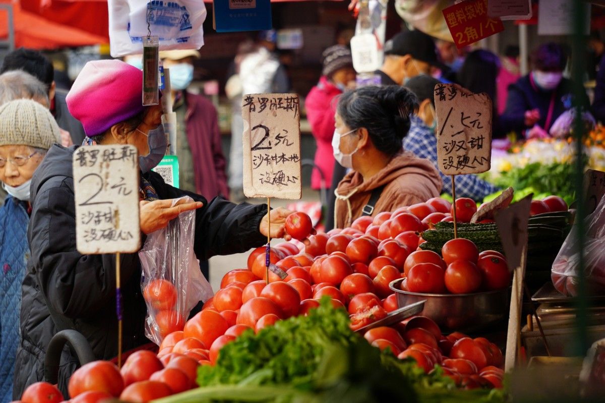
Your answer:
[[[586,216],[586,244],[584,245],[584,275],[587,289],[592,295],[605,293],[605,197],[592,214]],[[555,288],[575,297],[579,275],[577,229],[567,235],[557,258],[552,263],[551,278]]]

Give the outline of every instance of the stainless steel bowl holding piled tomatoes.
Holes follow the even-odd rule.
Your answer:
[[[509,313],[511,288],[470,294],[424,294],[401,290],[403,278],[391,281],[397,306],[426,300],[419,315],[428,316],[442,332],[473,333],[498,322]]]

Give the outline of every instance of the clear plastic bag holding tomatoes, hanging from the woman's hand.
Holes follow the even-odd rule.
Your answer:
[[[191,197],[175,199],[193,201]],[[147,305],[145,336],[160,345],[169,333],[183,330],[191,309],[212,297],[212,287],[194,254],[195,211],[181,213],[166,228],[149,234],[141,261],[141,290]]]

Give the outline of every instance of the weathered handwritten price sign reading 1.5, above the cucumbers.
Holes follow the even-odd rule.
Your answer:
[[[437,160],[446,175],[479,174],[491,165],[492,102],[457,84],[434,88]]]

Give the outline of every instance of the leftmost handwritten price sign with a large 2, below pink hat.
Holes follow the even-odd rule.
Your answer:
[[[86,146],[73,156],[76,247],[81,254],[140,249],[139,156],[130,145]]]

